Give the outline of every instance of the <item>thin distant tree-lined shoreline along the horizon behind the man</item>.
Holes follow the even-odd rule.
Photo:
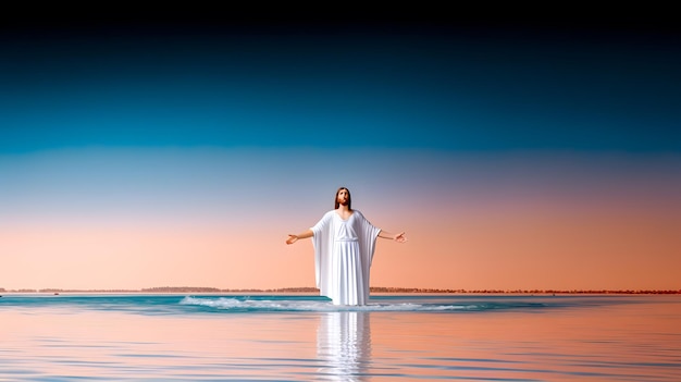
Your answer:
[[[42,288],[42,289],[4,289],[0,288],[0,294],[60,294],[60,293],[152,293],[152,294],[171,294],[171,293],[207,293],[207,294],[318,294],[315,287],[284,287],[284,288],[228,288],[221,289],[214,287],[193,287],[193,286],[160,286],[141,289],[62,289],[62,288]],[[508,294],[508,295],[678,295],[681,289],[438,289],[438,288],[412,288],[412,287],[371,287],[371,293],[376,294]]]

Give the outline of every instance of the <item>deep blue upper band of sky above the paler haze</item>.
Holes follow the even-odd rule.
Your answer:
[[[681,149],[668,24],[405,15],[10,23],[0,151]]]

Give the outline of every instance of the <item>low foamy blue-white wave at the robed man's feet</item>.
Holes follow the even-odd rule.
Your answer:
[[[543,304],[419,304],[387,303],[364,306],[339,306],[329,300],[314,299],[251,299],[234,297],[184,297],[181,305],[199,306],[216,311],[482,311],[509,308],[538,307]]]

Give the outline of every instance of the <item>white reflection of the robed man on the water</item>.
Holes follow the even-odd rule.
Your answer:
[[[324,313],[317,330],[317,353],[325,366],[319,373],[331,381],[366,381],[371,362],[370,313]]]

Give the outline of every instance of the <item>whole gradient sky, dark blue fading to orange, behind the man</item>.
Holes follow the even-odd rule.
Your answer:
[[[379,243],[374,286],[681,288],[676,30],[214,16],[1,32],[0,287],[312,286],[312,245],[286,234],[347,186],[409,238]]]

